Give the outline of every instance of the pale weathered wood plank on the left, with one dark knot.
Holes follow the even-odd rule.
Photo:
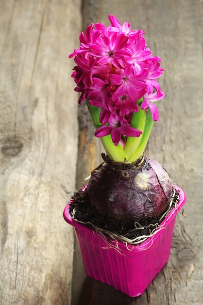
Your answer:
[[[0,1],[0,304],[70,304],[80,0]]]

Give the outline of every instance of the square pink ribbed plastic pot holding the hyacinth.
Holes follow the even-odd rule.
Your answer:
[[[156,233],[136,246],[108,241],[98,230],[88,229],[73,220],[69,203],[64,218],[75,229],[86,274],[131,297],[141,295],[169,260],[176,214],[186,202],[184,191],[177,186],[174,188],[179,193],[179,203]]]

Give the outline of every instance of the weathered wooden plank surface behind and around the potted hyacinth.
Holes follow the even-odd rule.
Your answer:
[[[62,215],[103,152],[67,56],[109,14],[144,30],[162,58],[166,97],[146,152],[187,195],[169,263],[138,298],[86,277]],[[0,0],[2,305],[203,304],[202,198],[202,0]]]

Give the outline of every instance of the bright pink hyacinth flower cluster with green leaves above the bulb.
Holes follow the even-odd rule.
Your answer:
[[[90,24],[79,36],[73,68],[96,131],[115,162],[135,162],[144,153],[152,125],[159,118],[157,101],[164,97],[157,78],[161,59],[152,57],[144,31],[131,30],[109,15],[111,25]]]

